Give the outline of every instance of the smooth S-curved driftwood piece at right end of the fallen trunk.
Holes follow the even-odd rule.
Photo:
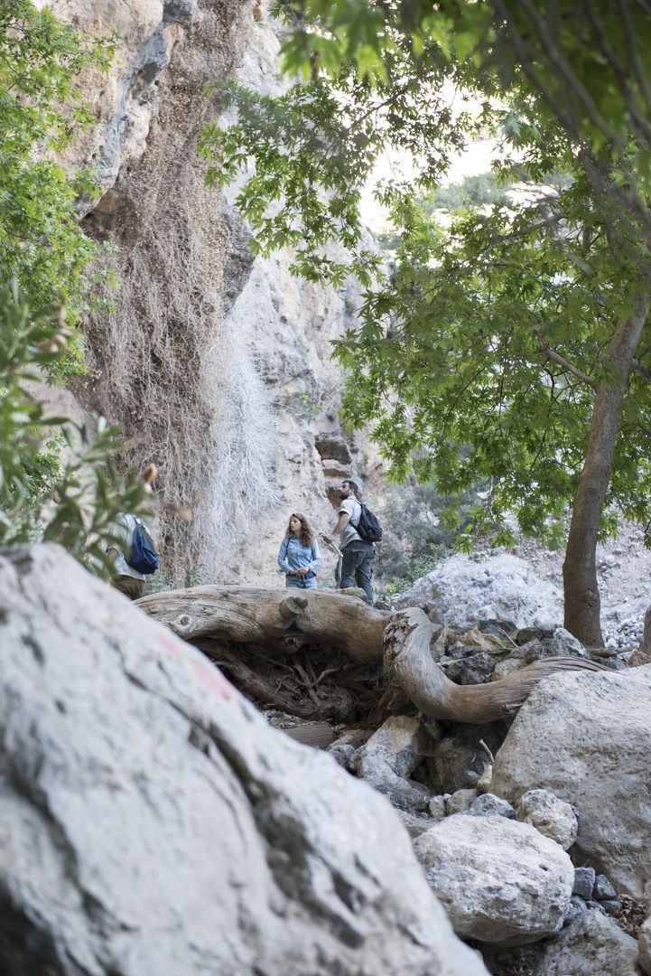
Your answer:
[[[581,658],[547,658],[499,681],[455,684],[432,659],[430,641],[436,632],[422,610],[408,607],[394,615],[384,634],[384,664],[390,680],[430,718],[470,725],[492,722],[513,716],[549,674],[606,670]]]

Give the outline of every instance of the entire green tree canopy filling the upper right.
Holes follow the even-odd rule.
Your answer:
[[[362,279],[360,329],[335,350],[349,372],[344,417],[372,426],[393,474],[405,478],[415,459],[457,505],[486,479],[476,525],[516,509],[524,531],[557,543],[595,389],[617,379],[610,340],[651,264],[651,48],[640,43],[651,20],[641,5],[615,22],[609,5],[563,3],[541,22],[547,5],[533,0],[278,7],[293,18],[286,65],[304,80],[279,99],[231,89],[237,121],[205,134],[211,179],[246,170],[239,202],[263,253],[289,244],[296,273]],[[474,115],[455,108],[460,90]],[[547,188],[496,194],[441,226],[440,178],[479,131],[497,141],[496,188],[522,177]],[[388,272],[367,260],[359,214],[387,148],[416,167],[378,193],[396,229]],[[349,253],[334,265],[332,242]],[[649,355],[644,336],[606,499],[635,518],[651,497]]]

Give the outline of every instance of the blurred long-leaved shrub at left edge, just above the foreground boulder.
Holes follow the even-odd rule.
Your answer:
[[[144,514],[147,497],[116,465],[116,427],[99,419],[92,436],[66,418],[46,416],[26,391],[39,368],[64,355],[65,343],[52,316],[30,312],[16,282],[0,288],[0,545],[58,542],[106,574],[104,551],[117,513]]]

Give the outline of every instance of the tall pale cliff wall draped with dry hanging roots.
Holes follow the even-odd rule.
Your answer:
[[[323,531],[328,489],[373,471],[362,442],[342,434],[329,358],[354,322],[355,285],[323,290],[290,276],[288,254],[253,258],[235,190],[208,189],[196,152],[220,111],[208,82],[279,84],[278,26],[240,0],[48,6],[119,38],[108,75],[81,79],[96,126],[64,158],[96,168],[101,198],[83,220],[111,271],[85,323],[77,398],[124,427],[130,462],[157,465],[177,584],[280,582],[289,512]]]

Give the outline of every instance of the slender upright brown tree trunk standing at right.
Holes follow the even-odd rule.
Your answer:
[[[596,540],[610,482],[622,403],[648,305],[648,291],[639,292],[632,313],[620,319],[611,340],[606,362],[615,371],[616,380],[603,381],[596,389],[586,463],[579,477],[565,549],[564,625],[588,647],[603,646],[596,583]]]

